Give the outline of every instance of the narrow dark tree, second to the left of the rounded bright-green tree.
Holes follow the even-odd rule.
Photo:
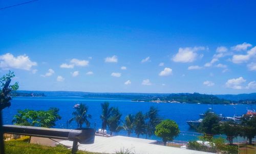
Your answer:
[[[145,116],[141,111],[135,115],[134,125],[134,131],[139,138],[140,134],[143,135],[146,132]]]

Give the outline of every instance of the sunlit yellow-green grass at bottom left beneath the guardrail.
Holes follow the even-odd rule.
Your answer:
[[[5,142],[5,152],[12,154],[19,153],[54,153],[54,154],[66,154],[71,153],[71,149],[67,149],[64,146],[44,146],[38,144],[29,144],[28,142],[24,142],[23,140],[11,140]],[[87,151],[78,151],[77,154],[99,154],[95,152],[87,152]]]

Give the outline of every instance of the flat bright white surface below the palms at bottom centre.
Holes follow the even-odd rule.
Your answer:
[[[95,136],[94,144],[79,144],[78,149],[100,153],[115,153],[115,151],[120,151],[120,149],[129,149],[136,154],[208,153],[202,151],[151,144],[152,142],[155,142],[155,140],[138,139],[124,136]],[[72,141],[61,141],[60,143],[67,146],[72,146],[73,144]]]

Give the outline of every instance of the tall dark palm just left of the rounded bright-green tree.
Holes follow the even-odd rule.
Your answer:
[[[146,139],[151,137],[156,130],[156,125],[161,122],[158,115],[158,110],[155,107],[150,107],[150,111],[146,113]]]

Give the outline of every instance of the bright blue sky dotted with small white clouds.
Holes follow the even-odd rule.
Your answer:
[[[255,5],[40,0],[0,10],[0,72],[14,71],[20,90],[255,92]]]

